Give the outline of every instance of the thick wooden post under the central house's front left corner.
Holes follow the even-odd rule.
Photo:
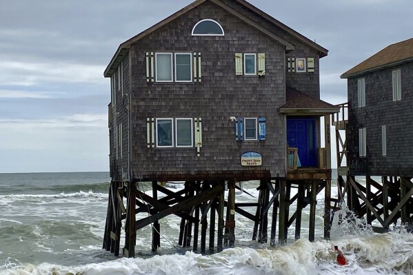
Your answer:
[[[137,186],[133,182],[128,183],[127,209],[125,221],[125,247],[123,248],[123,256],[126,258],[134,258],[134,249],[137,243],[136,224],[136,205],[137,205]]]

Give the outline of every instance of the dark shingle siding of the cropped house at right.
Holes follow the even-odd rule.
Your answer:
[[[392,70],[401,69],[401,101],[393,101]],[[358,107],[357,80],[365,78],[365,107]],[[413,176],[413,63],[348,79],[352,175]],[[386,126],[387,155],[381,126]],[[367,157],[359,157],[359,128],[367,130]]]

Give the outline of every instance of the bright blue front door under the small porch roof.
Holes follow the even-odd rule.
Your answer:
[[[289,147],[298,148],[303,167],[316,167],[316,120],[313,118],[287,119],[287,141]]]

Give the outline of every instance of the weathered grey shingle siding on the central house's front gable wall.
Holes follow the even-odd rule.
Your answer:
[[[192,37],[192,27],[201,19],[221,23],[225,37]],[[162,51],[201,52],[202,82],[147,83],[145,52]],[[236,52],[265,52],[265,77],[236,76]],[[284,52],[279,43],[208,2],[134,43],[134,176],[171,175],[171,180],[180,174],[234,179],[285,176],[285,120],[276,112],[285,103]],[[236,142],[230,116],[265,117],[267,139]],[[202,118],[201,156],[195,148],[147,148],[147,117]],[[241,167],[240,155],[250,151],[263,155],[261,167]]]

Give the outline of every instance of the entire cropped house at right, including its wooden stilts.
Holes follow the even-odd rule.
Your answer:
[[[387,46],[341,78],[348,103],[333,122],[341,200],[377,232],[411,227],[413,39]]]

